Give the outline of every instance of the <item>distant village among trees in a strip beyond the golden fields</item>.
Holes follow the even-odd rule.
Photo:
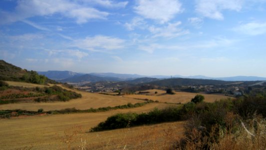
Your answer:
[[[140,86],[140,85],[139,85]],[[150,84],[142,84],[141,86],[146,86],[147,89],[158,88],[166,89],[168,87],[157,86],[154,87]],[[119,84],[113,82],[99,82],[94,84],[75,84],[76,88],[79,88],[88,92],[118,92],[123,90],[123,88],[128,87],[127,85]],[[238,82],[234,84],[223,84],[223,85],[182,85],[182,86],[172,86],[175,91],[187,91],[187,92],[201,92],[201,93],[212,93],[212,94],[223,94],[228,96],[241,96],[245,93],[249,93],[251,90],[265,90],[266,82],[256,83],[254,85],[247,85],[243,82]],[[135,89],[135,88],[134,88]],[[136,88],[138,89],[138,88]],[[132,91],[135,92],[135,91]]]

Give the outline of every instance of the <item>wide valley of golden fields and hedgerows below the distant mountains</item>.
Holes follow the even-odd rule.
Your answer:
[[[14,74],[11,78],[0,82],[0,145],[3,149],[178,147],[177,142],[186,136],[184,126],[190,121],[188,114],[205,108],[203,112],[213,111],[219,103],[226,106],[227,102],[239,100],[242,94],[265,90],[265,81],[187,78],[141,77],[67,84],[43,76],[43,80],[36,83],[37,80],[23,77],[27,71],[17,73],[20,68],[5,65],[15,69],[9,70]],[[38,79],[34,71],[29,73]],[[101,89],[88,92],[84,88],[96,85]],[[234,91],[241,95],[235,95]],[[203,103],[191,102],[197,95],[204,97]],[[194,109],[199,110],[194,112]],[[127,125],[91,132],[114,116],[122,118],[114,119],[113,124],[122,121],[120,123]]]

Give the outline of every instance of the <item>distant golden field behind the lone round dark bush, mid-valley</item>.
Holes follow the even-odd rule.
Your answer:
[[[169,103],[186,103],[189,102],[193,97],[195,97],[198,93],[192,93],[192,92],[175,92],[175,94],[159,94],[162,92],[162,90],[146,90],[151,91],[151,94],[145,95],[145,94],[133,94],[133,95],[125,95],[125,97],[129,98],[140,98],[140,99],[152,99],[152,100],[158,100],[160,102],[169,102]],[[154,94],[155,91],[158,91],[158,94]],[[165,91],[164,91],[165,93]],[[224,95],[217,95],[217,94],[202,94],[205,96],[206,102],[214,102],[215,100],[225,99],[229,96]],[[231,97],[232,98],[232,97]]]

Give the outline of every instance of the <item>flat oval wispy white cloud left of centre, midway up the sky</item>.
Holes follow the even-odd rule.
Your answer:
[[[124,47],[124,40],[116,37],[96,35],[86,37],[85,39],[76,40],[74,45],[92,51],[106,51],[121,49]]]

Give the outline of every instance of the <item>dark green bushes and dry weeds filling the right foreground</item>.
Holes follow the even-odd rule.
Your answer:
[[[259,149],[265,149],[265,101],[265,93],[256,93],[237,99],[222,99],[213,103],[195,103],[191,101],[184,104],[181,108],[154,109],[147,113],[118,113],[92,127],[90,131],[186,120],[184,126],[185,136],[177,141],[177,143],[174,143],[174,145],[178,145],[174,147],[176,149],[217,149],[221,144],[224,144],[222,142],[228,141],[227,139],[239,144],[239,141],[241,141],[240,137],[244,139],[247,138],[247,135],[252,136],[252,138],[254,137],[254,140],[256,137],[256,140],[260,143],[258,145],[252,140],[248,140],[250,144],[257,144],[256,147],[260,147]],[[260,127],[263,129],[258,130]],[[248,132],[249,130],[250,133]],[[237,139],[238,141],[236,141]],[[235,143],[226,143],[224,146],[237,146]]]

